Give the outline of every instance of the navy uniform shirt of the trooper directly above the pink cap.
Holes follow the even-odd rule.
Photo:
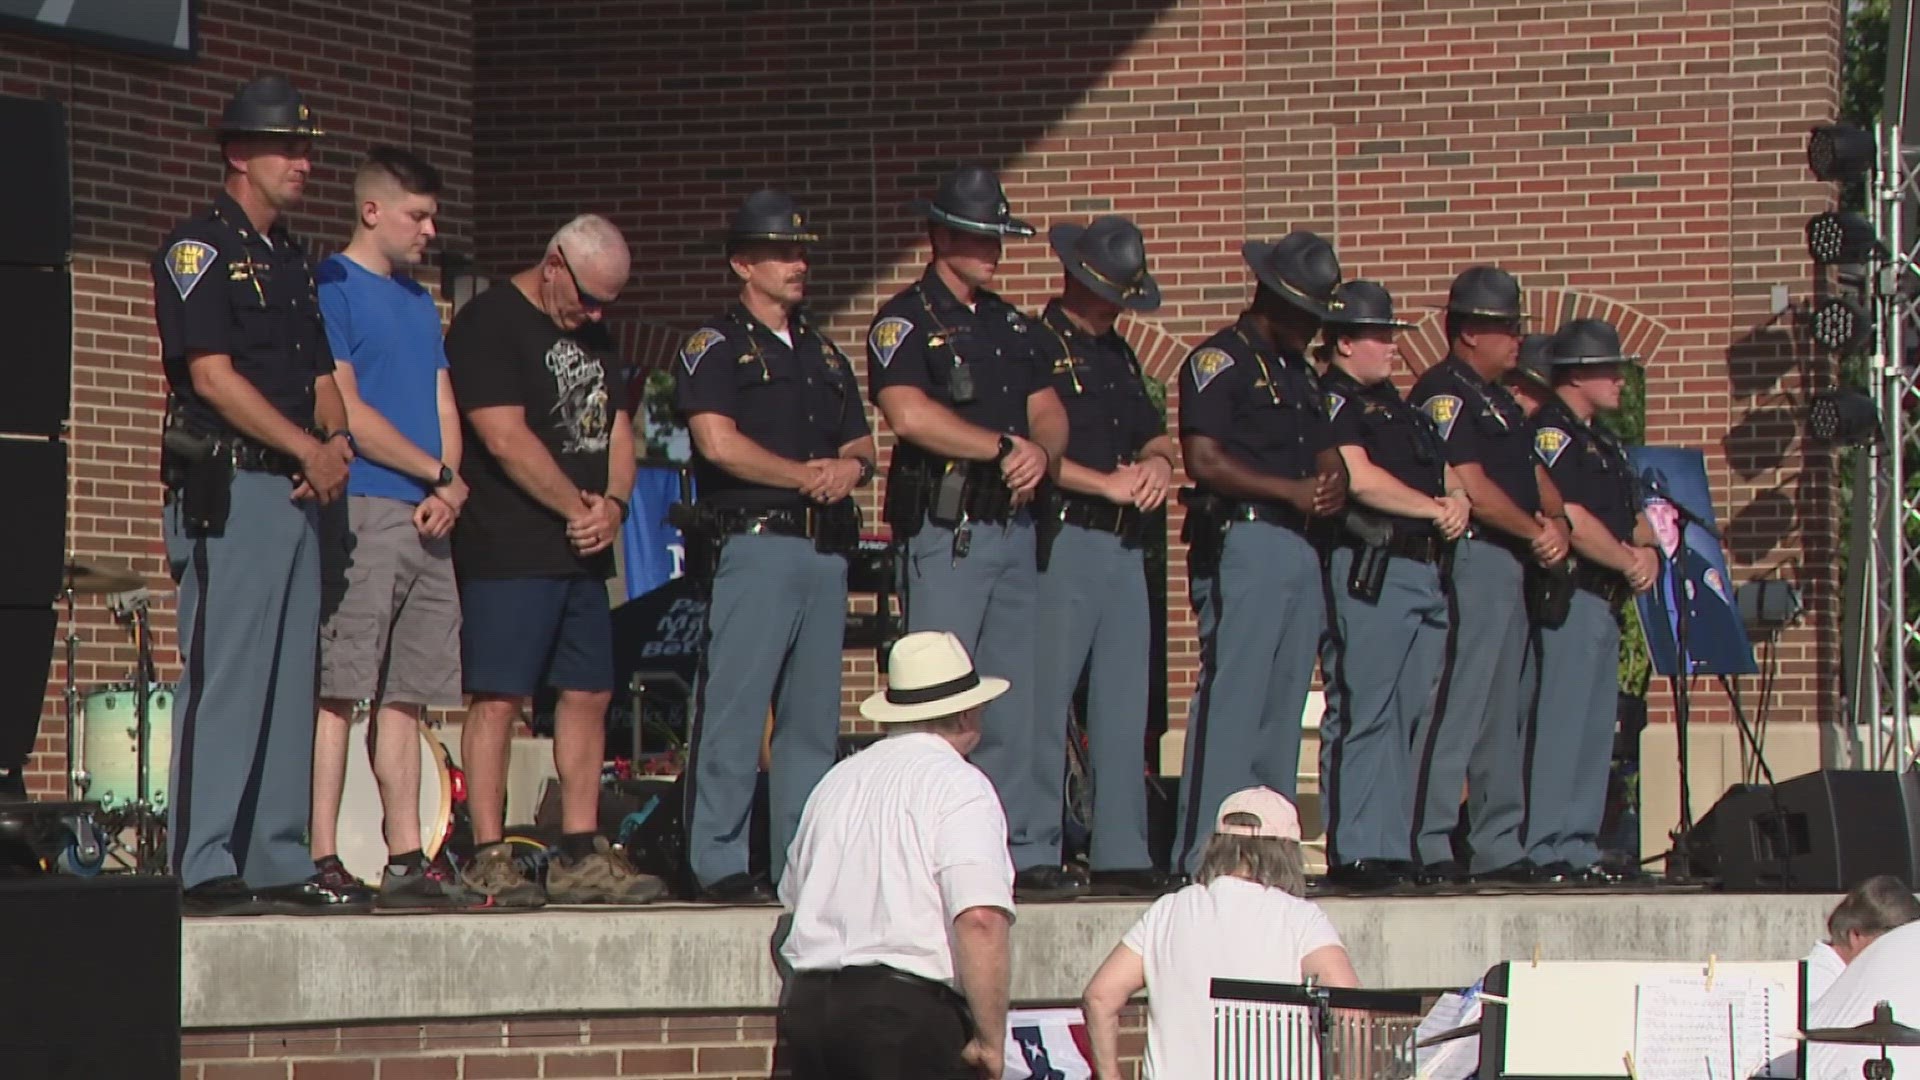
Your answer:
[[[1244,315],[1181,365],[1181,434],[1206,434],[1235,461],[1288,480],[1315,475],[1313,457],[1334,444],[1319,375]]]

